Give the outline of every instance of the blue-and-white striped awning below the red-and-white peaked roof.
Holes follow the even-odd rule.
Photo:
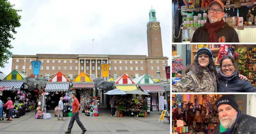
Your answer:
[[[68,91],[68,83],[46,83],[45,92]]]

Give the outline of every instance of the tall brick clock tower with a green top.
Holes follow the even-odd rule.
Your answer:
[[[162,37],[160,22],[156,21],[156,12],[153,8],[149,11],[147,23],[148,57],[163,57]]]

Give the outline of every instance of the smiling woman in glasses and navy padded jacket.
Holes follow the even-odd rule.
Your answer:
[[[220,59],[220,71],[217,74],[220,82],[218,92],[256,92],[256,89],[247,80],[238,78],[236,62],[231,56]]]

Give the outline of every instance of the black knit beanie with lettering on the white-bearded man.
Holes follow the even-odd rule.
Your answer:
[[[232,95],[224,95],[217,100],[217,109],[221,104],[228,104],[232,108],[234,108],[237,112],[239,111],[238,104],[236,103],[235,96]]]

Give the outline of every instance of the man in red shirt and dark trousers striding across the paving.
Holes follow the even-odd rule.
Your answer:
[[[71,133],[72,127],[76,120],[76,123],[78,124],[78,126],[83,130],[82,134],[84,134],[87,130],[84,128],[84,125],[81,123],[81,121],[79,119],[80,104],[76,98],[76,93],[72,93],[71,97],[74,99],[73,106],[72,106],[72,116],[71,116],[70,122],[68,124],[68,131],[66,131],[65,133],[66,134]]]

